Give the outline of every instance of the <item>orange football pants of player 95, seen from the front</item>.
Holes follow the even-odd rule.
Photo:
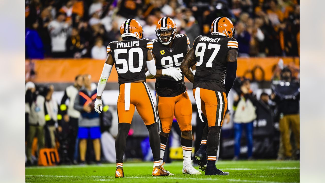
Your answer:
[[[192,130],[192,103],[187,92],[175,97],[161,97],[156,100],[158,118],[160,119],[160,132],[170,133],[174,115],[181,131]]]

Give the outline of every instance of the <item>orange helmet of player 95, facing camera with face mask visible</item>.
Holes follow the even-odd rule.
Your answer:
[[[172,34],[166,36],[160,36],[161,32],[164,31],[172,31]],[[158,40],[163,45],[168,45],[170,42],[172,42],[175,38],[176,32],[177,30],[176,30],[175,21],[170,17],[161,18],[156,25],[156,35],[158,37]]]

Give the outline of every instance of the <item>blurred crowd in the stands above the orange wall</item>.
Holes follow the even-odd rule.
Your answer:
[[[158,20],[174,19],[191,43],[212,21],[233,21],[239,56],[299,56],[299,0],[26,0],[26,58],[105,59],[120,25],[140,22],[155,39]]]

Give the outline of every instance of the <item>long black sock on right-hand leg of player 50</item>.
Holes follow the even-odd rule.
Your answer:
[[[154,162],[159,161],[159,165],[155,165],[155,166],[160,166],[160,148],[159,148],[160,136],[158,133],[157,123],[146,125],[146,127],[149,131],[149,143],[153,155],[153,161]]]

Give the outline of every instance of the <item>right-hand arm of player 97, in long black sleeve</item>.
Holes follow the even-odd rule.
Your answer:
[[[225,81],[227,96],[236,79],[237,55],[237,49],[230,49],[227,53],[227,77]]]

